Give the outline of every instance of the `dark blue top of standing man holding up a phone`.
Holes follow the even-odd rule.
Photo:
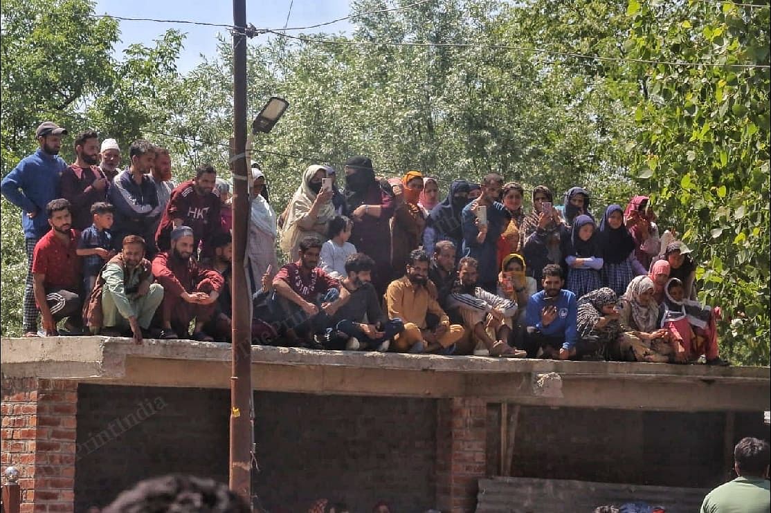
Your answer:
[[[463,256],[473,257],[479,262],[480,277],[478,283],[486,284],[498,280],[498,239],[503,232],[503,225],[510,215],[503,203],[495,202],[487,207],[487,235],[483,243],[476,242],[476,236],[480,230],[474,223],[476,215],[471,211],[473,202],[463,207],[460,214],[461,228],[463,230]]]

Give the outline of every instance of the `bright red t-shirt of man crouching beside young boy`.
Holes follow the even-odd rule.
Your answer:
[[[32,253],[32,273],[45,274],[43,285],[46,288],[73,292],[79,290],[81,264],[76,253],[79,239],[78,230],[70,229],[69,243],[65,244],[56,236],[55,230],[50,230],[35,245],[35,251]]]

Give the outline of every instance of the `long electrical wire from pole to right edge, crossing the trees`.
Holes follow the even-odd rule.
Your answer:
[[[602,57],[601,55],[584,55],[574,52],[559,52],[557,50],[529,48],[514,45],[485,45],[481,43],[438,43],[438,42],[382,42],[382,41],[359,41],[352,39],[315,39],[302,35],[282,34],[274,30],[267,32],[278,35],[283,38],[296,39],[301,42],[319,43],[324,45],[364,45],[364,46],[409,46],[416,48],[475,48],[475,49],[498,49],[498,50],[518,50],[520,52],[546,53],[550,55],[561,55],[564,57],[574,57],[575,59],[589,59],[608,62],[638,62],[641,64],[652,65],[672,65],[685,67],[709,66],[717,68],[742,68],[742,69],[771,69],[771,65],[762,64],[718,64],[716,62],[675,62],[675,61],[655,61],[652,59],[633,59],[629,57]]]

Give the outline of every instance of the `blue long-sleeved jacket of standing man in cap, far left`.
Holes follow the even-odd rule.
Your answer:
[[[27,239],[39,239],[50,229],[45,206],[59,197],[59,176],[67,168],[64,159],[38,149],[26,156],[0,183],[5,199],[22,209],[22,229]],[[27,213],[37,212],[33,219]]]

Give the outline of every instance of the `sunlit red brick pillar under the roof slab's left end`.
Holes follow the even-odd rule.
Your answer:
[[[71,381],[2,379],[2,469],[19,468],[22,513],[72,511],[77,387]]]

